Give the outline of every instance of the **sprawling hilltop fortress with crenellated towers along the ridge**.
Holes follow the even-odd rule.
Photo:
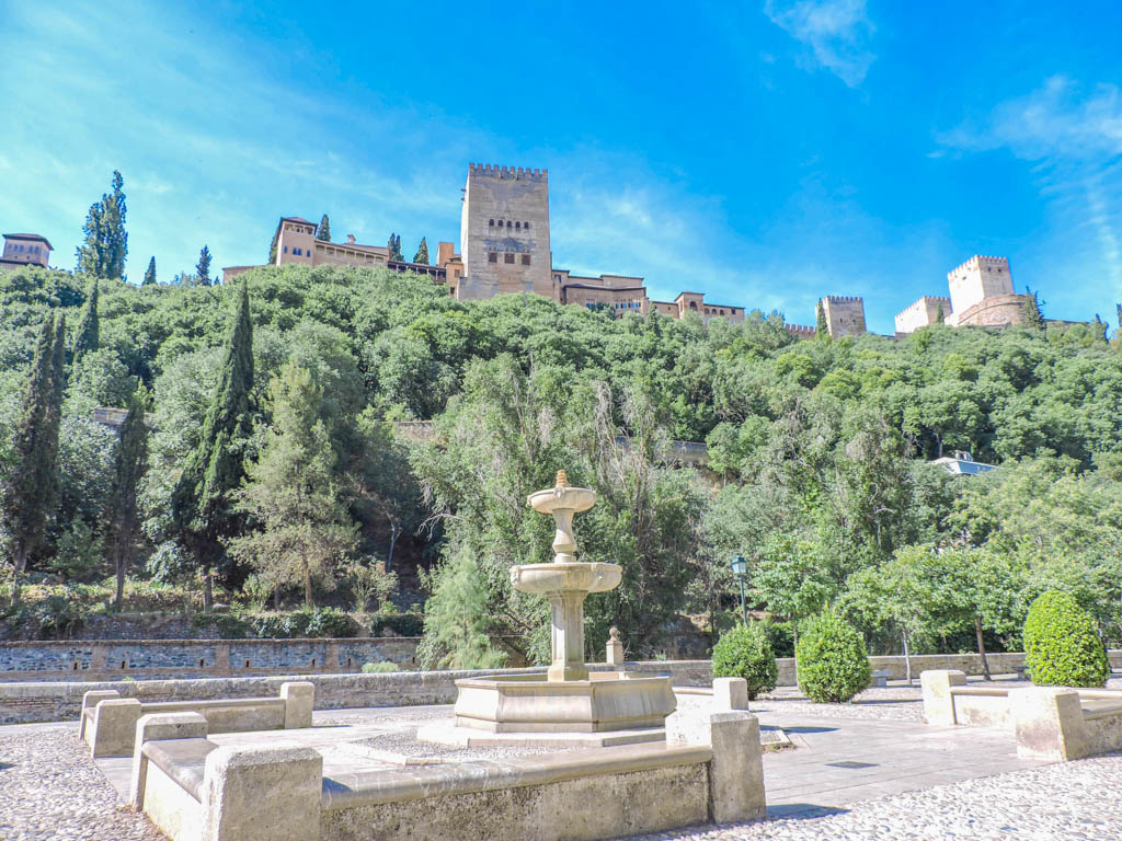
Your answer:
[[[387,246],[364,246],[316,238],[314,223],[283,216],[273,237],[273,265],[378,266],[394,271],[429,275],[460,301],[482,301],[509,293],[534,293],[561,304],[607,309],[617,318],[627,313],[656,312],[674,318],[696,313],[705,322],[744,321],[745,308],[712,304],[705,293],[682,292],[673,301],[653,301],[642,277],[585,277],[553,265],[550,242],[549,172],[523,167],[469,164],[460,212],[460,252],[441,242],[435,265],[390,259]],[[251,266],[223,270],[229,281]],[[1024,295],[1013,293],[1009,260],[972,257],[947,275],[949,297],[923,296],[896,315],[896,335],[944,322],[953,326],[1004,326],[1023,321]],[[819,301],[831,336],[866,332],[861,297],[827,295]],[[803,339],[816,327],[789,324]]]

